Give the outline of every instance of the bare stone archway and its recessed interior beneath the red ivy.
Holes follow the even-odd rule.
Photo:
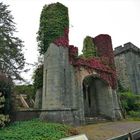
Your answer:
[[[84,103],[84,117],[102,116],[112,120],[122,118],[118,99],[113,95],[116,94],[115,90],[112,90],[105,81],[100,79],[95,71],[89,73],[86,69],[81,68],[77,75],[78,81],[81,82],[79,93],[82,93],[80,100]],[[90,82],[86,82],[86,78]],[[83,84],[89,87],[89,92],[83,90]]]

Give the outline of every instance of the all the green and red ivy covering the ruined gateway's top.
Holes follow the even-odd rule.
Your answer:
[[[69,45],[68,33],[68,8],[59,2],[45,5],[40,17],[37,38],[40,54],[47,51],[50,43],[67,47],[70,64],[96,70],[100,77],[115,89],[116,71],[111,37],[104,34],[95,38],[87,36],[83,43],[82,57],[78,57],[78,48]]]

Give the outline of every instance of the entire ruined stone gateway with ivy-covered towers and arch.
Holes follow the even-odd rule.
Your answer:
[[[40,118],[70,124],[83,124],[92,117],[122,118],[111,37],[87,36],[78,56],[78,48],[68,41],[67,8],[55,3],[43,10],[39,35],[44,37],[40,40],[45,50],[42,109],[47,112]]]

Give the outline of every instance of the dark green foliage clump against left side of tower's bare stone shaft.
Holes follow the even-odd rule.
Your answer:
[[[43,65],[39,65],[33,76],[34,91],[43,87]]]

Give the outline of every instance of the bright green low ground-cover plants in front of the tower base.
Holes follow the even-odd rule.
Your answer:
[[[71,128],[39,120],[16,122],[0,129],[0,140],[59,140],[70,136]]]

